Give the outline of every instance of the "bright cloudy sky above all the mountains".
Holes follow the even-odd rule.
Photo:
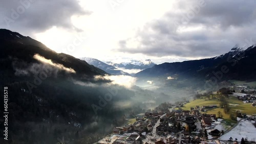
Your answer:
[[[222,55],[256,43],[254,0],[9,0],[0,28],[58,53],[160,64]]]

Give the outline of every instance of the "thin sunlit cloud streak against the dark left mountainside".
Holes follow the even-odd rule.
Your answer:
[[[76,71],[72,68],[67,68],[65,66],[63,66],[62,64],[59,64],[59,63],[53,63],[52,60],[49,60],[49,59],[46,59],[38,54],[35,54],[33,56],[34,59],[42,62],[42,63],[46,63],[46,64],[50,64],[58,69],[61,69],[61,70],[65,70],[67,73],[76,73]]]

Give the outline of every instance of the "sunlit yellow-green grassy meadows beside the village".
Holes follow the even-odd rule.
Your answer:
[[[247,115],[252,115],[256,114],[256,107],[252,107],[250,103],[244,104],[242,101],[239,101],[236,97],[230,97],[228,99],[228,102],[231,107],[231,111],[237,111],[240,110],[243,113],[246,113]],[[218,108],[212,109],[207,111],[206,113],[208,114],[216,114],[218,115],[218,111],[222,112],[223,118],[226,119],[227,121],[232,121],[229,118],[229,114],[224,113],[224,109],[220,108],[220,101],[217,99],[213,100],[205,100],[203,99],[197,99],[194,101],[190,101],[189,103],[185,104],[184,107],[182,107],[184,110],[190,110],[190,107],[195,107],[195,106],[203,106],[203,105],[217,105]]]

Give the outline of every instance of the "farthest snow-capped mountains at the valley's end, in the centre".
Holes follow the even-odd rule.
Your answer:
[[[110,65],[113,65],[115,67],[119,67],[119,68],[141,69],[141,70],[146,69],[146,68],[151,68],[154,65],[156,65],[150,59],[146,59],[144,61],[142,61],[142,60],[129,60],[127,62],[120,62],[120,63],[114,63],[114,62],[108,61],[106,63],[110,64]]]

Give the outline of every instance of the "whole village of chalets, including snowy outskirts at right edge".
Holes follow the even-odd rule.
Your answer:
[[[252,107],[255,106],[254,95],[244,93],[233,93],[232,95],[233,98],[237,97],[243,103],[251,103]],[[239,113],[238,123],[227,129],[222,125],[223,119],[220,115],[210,113],[211,110],[218,108],[218,104],[196,105],[190,107],[190,110],[184,110],[183,105],[186,103],[189,101],[170,104],[160,110],[139,114],[136,116],[136,122],[113,128],[112,134],[99,140],[97,144],[233,144],[240,143],[238,141],[241,141],[243,137],[237,136],[240,139],[232,138],[230,133],[232,130],[236,130],[238,124],[241,126],[244,123],[248,123],[248,129],[251,128],[249,133],[256,135],[256,116]],[[248,135],[245,139],[247,143],[248,141],[255,143],[254,137],[256,136]]]

